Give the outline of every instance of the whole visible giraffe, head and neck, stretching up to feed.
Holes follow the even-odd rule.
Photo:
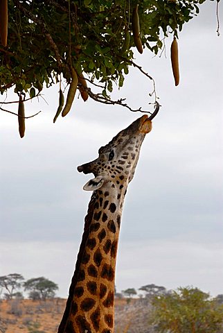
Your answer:
[[[152,130],[143,115],[78,167],[95,176],[84,185],[93,191],[84,232],[58,333],[114,333],[114,278],[118,234],[127,186],[134,176],[141,144]]]

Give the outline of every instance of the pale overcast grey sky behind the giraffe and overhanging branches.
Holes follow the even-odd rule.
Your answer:
[[[223,21],[217,37],[215,6],[206,1],[179,33],[178,87],[171,36],[166,57],[135,53],[156,81],[161,110],[125,198],[117,291],[154,283],[223,293]],[[222,11],[220,2],[220,17]],[[124,85],[114,99],[152,110],[148,78],[131,69]],[[71,112],[53,124],[58,90],[43,90],[47,103],[25,105],[27,115],[42,112],[26,120],[23,139],[17,117],[0,113],[0,275],[44,276],[66,298],[91,196],[82,190],[91,175],[76,168],[142,114],[75,96]],[[9,92],[10,99],[17,96]]]

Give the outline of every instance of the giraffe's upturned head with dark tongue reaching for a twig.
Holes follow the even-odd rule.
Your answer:
[[[157,105],[159,105],[157,103]],[[159,106],[157,107],[159,110]],[[156,109],[154,113],[157,114]],[[100,147],[98,158],[78,167],[79,172],[93,173],[95,178],[89,180],[84,189],[94,191],[108,183],[113,187],[128,184],[134,176],[139,159],[141,144],[145,135],[152,130],[151,119],[143,115],[130,126],[121,130],[106,146]]]

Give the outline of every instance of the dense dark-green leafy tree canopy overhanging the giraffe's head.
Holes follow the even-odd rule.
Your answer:
[[[8,40],[0,48],[0,92],[14,87],[24,102],[41,95],[43,85],[48,88],[63,79],[69,85],[69,106],[78,87],[84,101],[89,96],[132,110],[124,99],[112,101],[109,95],[114,85],[123,86],[129,67],[134,66],[153,81],[150,97],[156,103],[154,80],[134,62],[134,52],[147,48],[157,54],[165,38],[179,37],[204,1],[8,0]],[[58,114],[62,104],[60,89]],[[1,110],[6,108],[1,105]],[[23,118],[24,110],[20,111]]]

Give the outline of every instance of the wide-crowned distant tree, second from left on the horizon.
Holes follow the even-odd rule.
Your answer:
[[[24,289],[30,291],[29,298],[46,300],[47,298],[54,298],[58,286],[53,281],[40,277],[24,282]]]

